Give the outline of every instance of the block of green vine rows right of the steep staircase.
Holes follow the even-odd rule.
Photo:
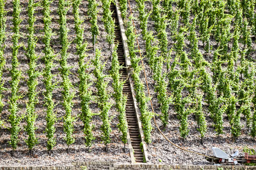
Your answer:
[[[122,17],[131,20],[133,16],[128,19],[122,10],[126,4],[120,1]],[[224,133],[226,117],[235,141],[243,127],[255,138],[255,1],[152,0],[148,8],[145,4],[136,0],[136,12],[163,127],[172,106],[182,138],[189,135],[191,115],[198,123],[201,142],[211,124],[208,117],[216,135]],[[150,29],[148,22],[153,23]],[[139,85],[142,80],[136,77],[141,67],[131,21],[126,27],[131,60],[136,61],[132,67],[137,100],[140,105],[145,100],[147,107],[145,84]],[[145,136],[149,136],[151,127],[145,120],[152,115],[143,115],[146,107],[140,106],[140,111]]]

